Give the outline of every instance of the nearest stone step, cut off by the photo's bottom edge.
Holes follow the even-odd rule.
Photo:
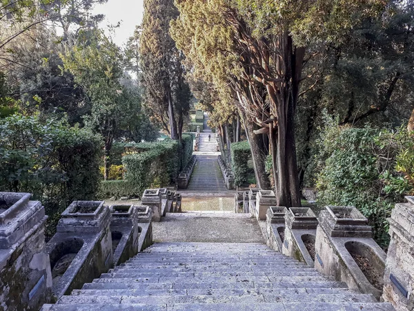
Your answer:
[[[137,304],[108,304],[108,303],[85,303],[85,304],[55,304],[45,305],[42,311],[160,311],[167,310],[166,305]],[[256,303],[251,304],[179,304],[177,303],[168,311],[395,311],[389,303]]]

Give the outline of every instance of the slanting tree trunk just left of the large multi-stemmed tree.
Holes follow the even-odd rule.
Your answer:
[[[253,122],[246,121],[244,119],[244,130],[246,131],[246,137],[248,144],[250,145],[250,153],[252,154],[253,169],[255,171],[255,177],[257,182],[257,187],[260,189],[270,189],[270,180],[268,174],[266,173],[266,148],[264,148],[262,135],[255,135],[253,131],[255,130],[255,124]]]

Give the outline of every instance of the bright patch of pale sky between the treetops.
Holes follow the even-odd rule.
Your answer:
[[[106,19],[101,23],[102,28],[121,22],[121,26],[111,35],[113,41],[123,46],[139,25],[144,13],[144,0],[109,0],[108,3],[96,6],[94,14],[103,14]]]

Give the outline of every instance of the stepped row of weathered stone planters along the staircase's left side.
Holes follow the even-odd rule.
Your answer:
[[[168,192],[146,194],[153,195],[151,206],[72,202],[46,244],[41,202],[30,200],[31,194],[0,192],[1,308],[39,310],[151,245],[152,212],[159,210],[154,198],[166,208]],[[174,200],[179,208],[181,198]]]

